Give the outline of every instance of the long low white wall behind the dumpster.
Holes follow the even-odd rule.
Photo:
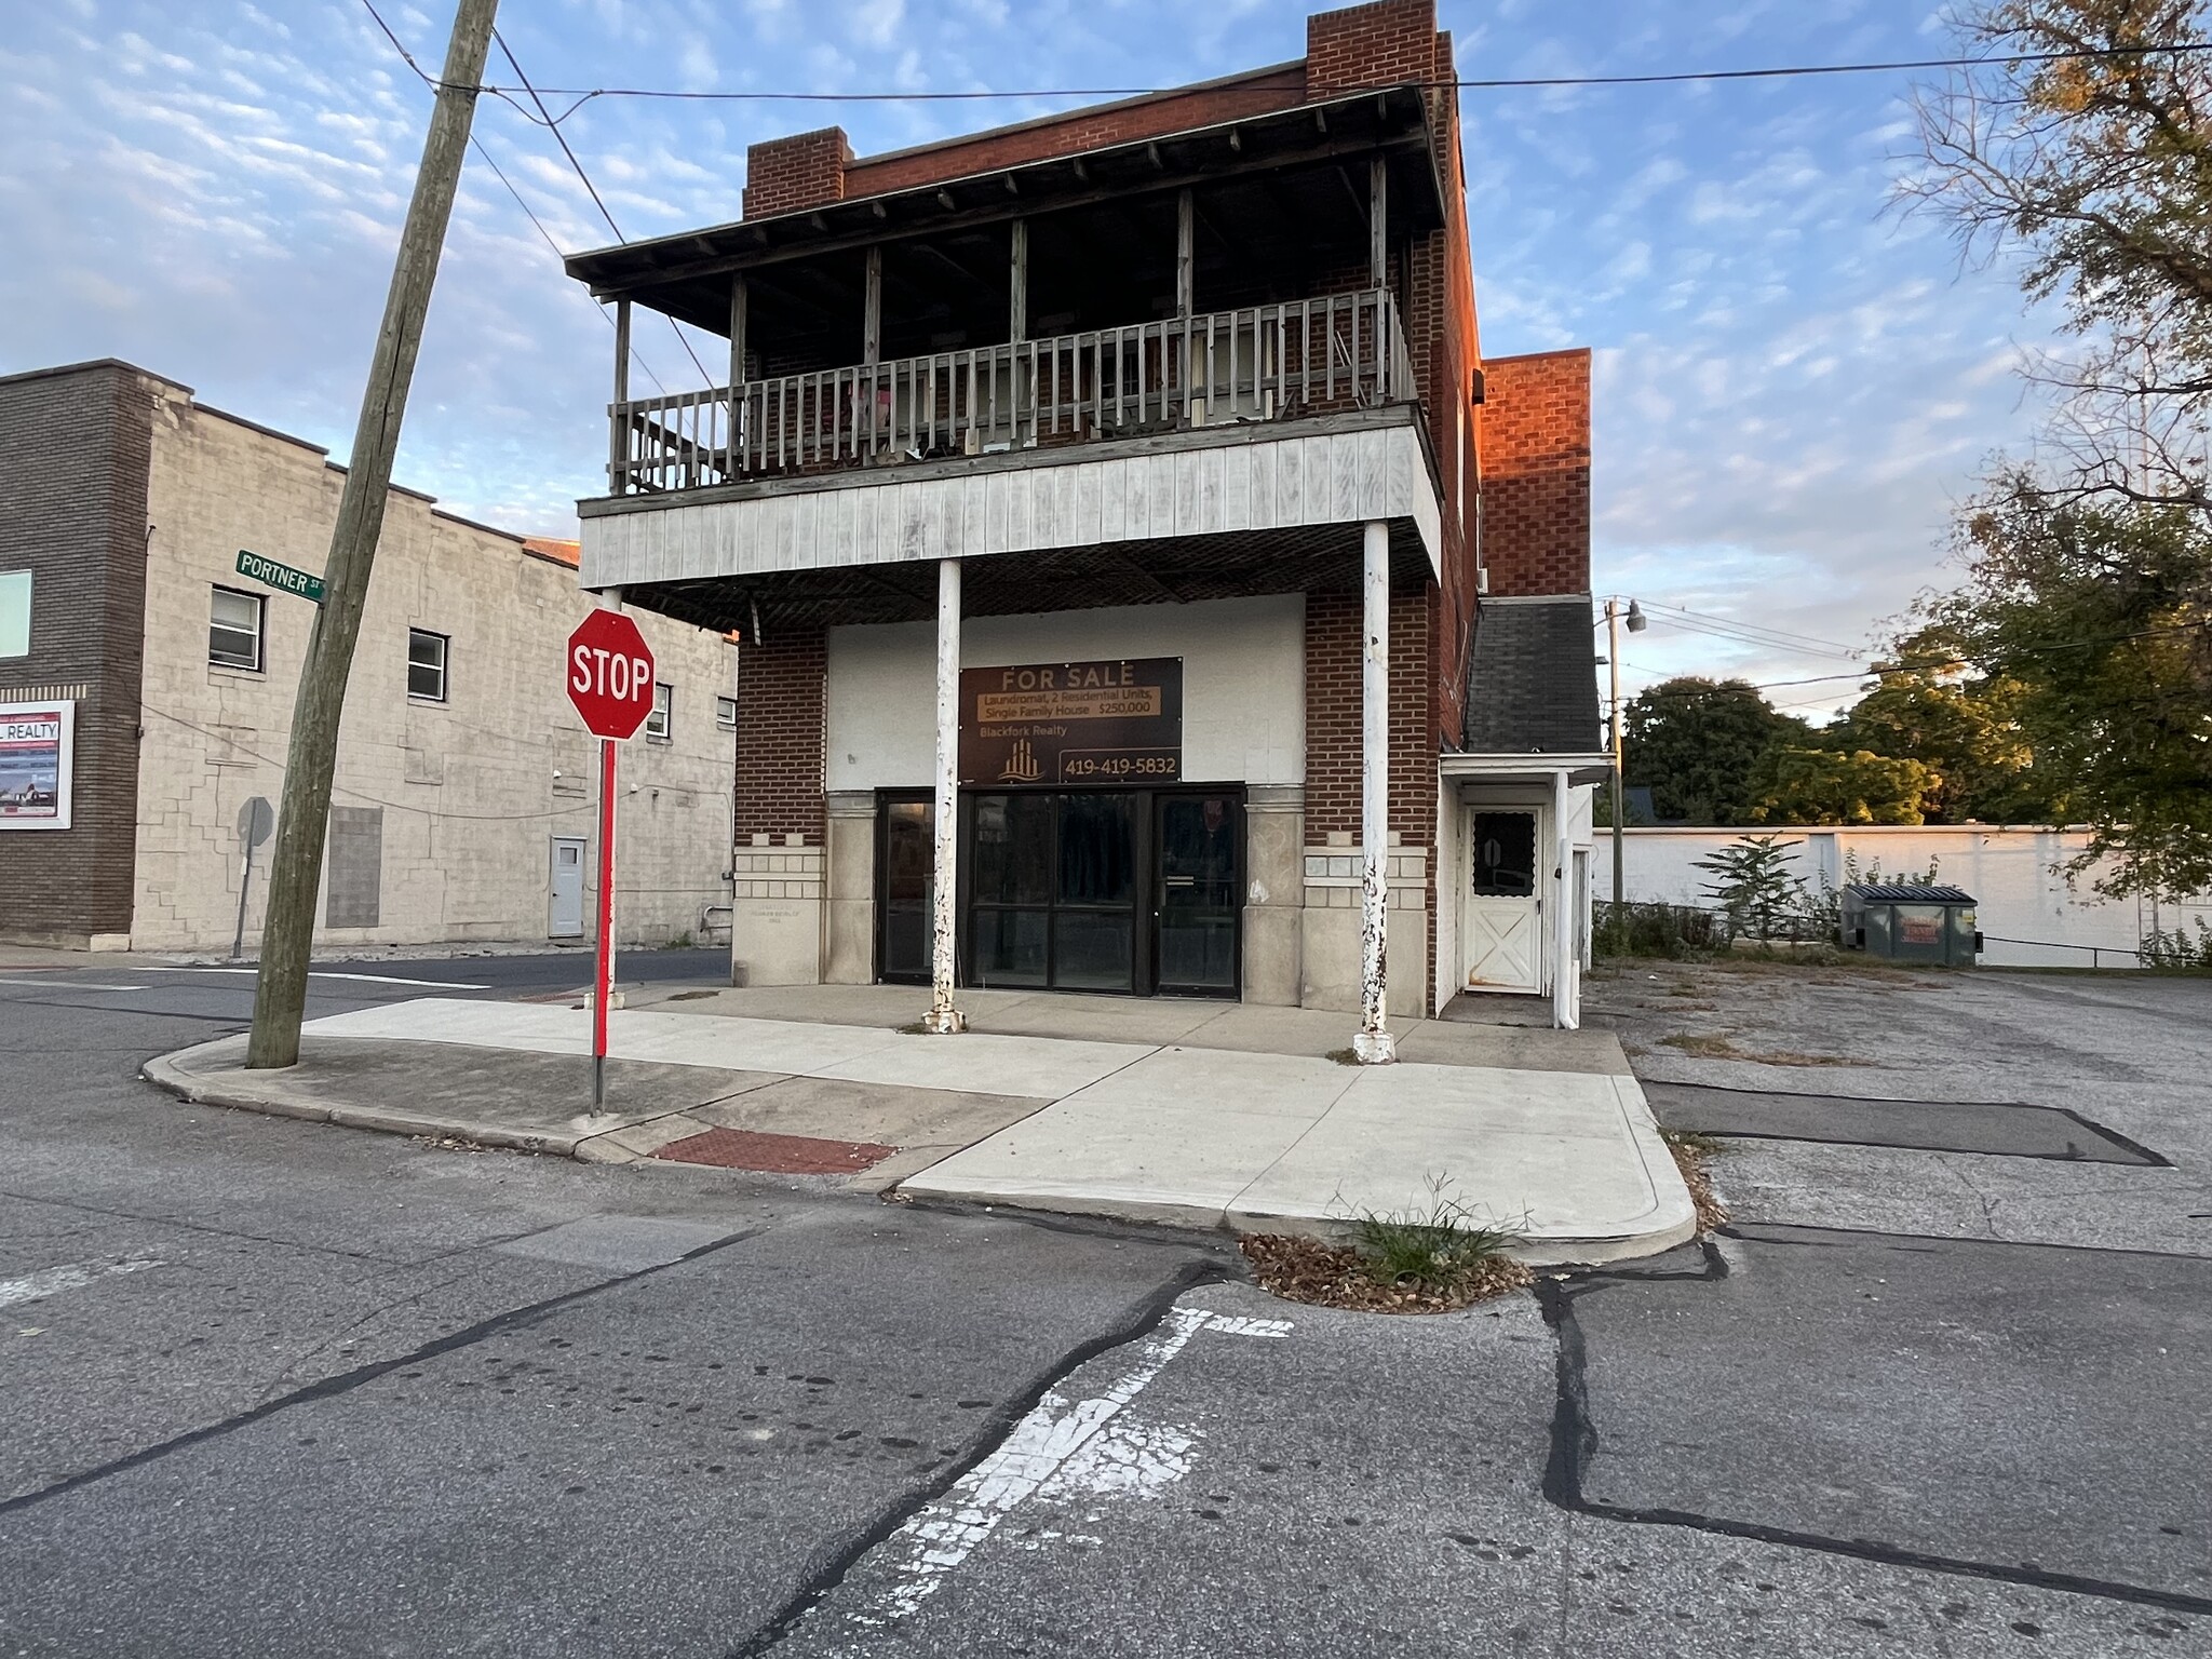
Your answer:
[[[1628,830],[1624,834],[1624,891],[1630,900],[1712,905],[1697,869],[1719,847],[1767,830]],[[1876,863],[1882,874],[1924,874],[1936,860],[1936,880],[1964,887],[1975,898],[1975,918],[1989,940],[1982,960],[1995,967],[2090,967],[2090,949],[2132,951],[2154,925],[2150,902],[2099,898],[2097,872],[2073,885],[2057,872],[2088,845],[2081,830],[2035,830],[1995,825],[1876,825],[1778,830],[1796,843],[1792,863],[1818,889],[1825,876],[1843,878],[1845,856],[1858,854],[1860,876]],[[1613,832],[1597,832],[1590,883],[1599,900],[1613,898]],[[2188,914],[2201,914],[2192,909]],[[2177,909],[2163,907],[2159,925],[2172,929]],[[2104,967],[2135,967],[2132,956],[2101,956]]]

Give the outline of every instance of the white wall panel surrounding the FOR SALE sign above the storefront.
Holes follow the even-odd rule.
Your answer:
[[[969,617],[960,664],[1183,659],[1183,779],[1305,783],[1305,597]],[[929,787],[936,624],[830,630],[830,790]]]

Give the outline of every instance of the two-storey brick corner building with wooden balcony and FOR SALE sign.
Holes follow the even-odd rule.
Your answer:
[[[1369,1057],[1471,984],[1575,1020],[1588,354],[1482,358],[1453,75],[1380,0],[757,144],[741,221],[568,261],[617,307],[582,582],[743,635],[741,980],[1241,995]],[[637,305],[728,385],[635,398]]]

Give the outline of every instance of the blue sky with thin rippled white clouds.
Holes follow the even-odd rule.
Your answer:
[[[427,64],[442,0],[380,9]],[[509,0],[540,84],[690,91],[1164,86],[1298,58],[1276,0]],[[1462,75],[1951,53],[1900,0],[1442,0]],[[507,82],[493,58],[493,80]],[[1597,349],[1599,593],[1863,646],[1944,580],[1947,520],[2035,420],[2048,323],[1942,226],[1885,210],[1907,75],[1462,95],[1491,354]],[[429,95],[361,0],[49,0],[0,42],[0,372],[122,356],[343,458]],[[841,122],[916,144],[1057,104],[597,100],[564,126],[630,237],[737,217],[745,144]],[[551,135],[478,135],[564,250],[606,228]],[[695,385],[668,325],[639,352]],[[714,363],[708,349],[699,352]],[[471,155],[398,478],[520,531],[597,491],[611,330]],[[679,372],[681,369],[681,372]],[[1655,626],[1663,672],[1849,668]],[[1820,714],[1851,681],[1785,686]]]

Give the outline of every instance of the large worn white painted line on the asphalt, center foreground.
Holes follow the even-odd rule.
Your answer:
[[[1287,1336],[1285,1318],[1234,1318],[1203,1307],[1175,1307],[1137,1349],[1104,1394],[1073,1405],[1046,1394],[1013,1425],[998,1451],[969,1469],[940,1500],[916,1513],[883,1548],[891,1551],[896,1582],[874,1608],[845,1615],[856,1626],[880,1628],[909,1617],[978,1544],[1040,1491],[1048,1495],[1148,1495],[1190,1469],[1194,1436],[1175,1429],[1115,1427],[1121,1409],[1199,1332],[1230,1336]]]

